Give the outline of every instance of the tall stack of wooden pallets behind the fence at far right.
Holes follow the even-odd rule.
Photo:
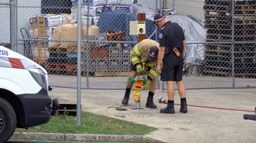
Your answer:
[[[210,1],[204,4],[206,42],[231,42],[232,1]],[[234,41],[255,42],[256,1],[234,2]],[[234,76],[256,77],[255,43],[234,44]],[[231,76],[232,45],[205,45],[205,68],[207,75]]]

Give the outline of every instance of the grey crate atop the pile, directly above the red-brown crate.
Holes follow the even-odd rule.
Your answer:
[[[101,42],[101,41],[108,41],[105,33],[100,33],[98,35],[89,36],[89,40],[99,41],[99,42],[89,43],[89,45],[93,46],[93,47],[102,47],[102,46],[106,46],[106,45],[109,44],[109,43],[106,43],[106,42]]]

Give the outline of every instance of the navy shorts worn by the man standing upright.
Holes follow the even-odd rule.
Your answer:
[[[183,73],[183,55],[176,56],[174,52],[164,54],[163,68],[161,71],[162,81],[181,81]]]

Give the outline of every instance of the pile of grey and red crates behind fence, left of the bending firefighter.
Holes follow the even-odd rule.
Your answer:
[[[127,39],[125,32],[106,31],[105,33],[89,36],[89,39],[97,42],[89,43],[89,59],[88,61],[85,57],[82,59],[82,75],[86,75],[85,73],[88,71],[90,76],[118,76],[120,72],[130,70],[129,53],[132,48],[128,47],[127,44],[103,42],[125,41]]]

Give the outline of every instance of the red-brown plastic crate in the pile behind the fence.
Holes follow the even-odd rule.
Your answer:
[[[108,59],[108,47],[90,47],[89,59]]]

